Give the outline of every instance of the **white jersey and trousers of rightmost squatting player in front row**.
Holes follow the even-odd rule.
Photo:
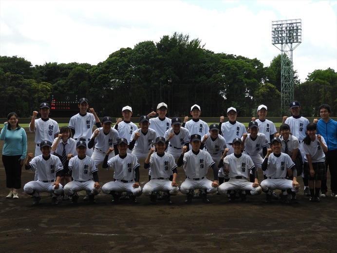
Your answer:
[[[293,180],[286,179],[287,170],[292,169],[294,166],[295,163],[287,154],[281,153],[281,156],[277,157],[274,153],[271,153],[268,157],[268,167],[265,174],[267,179],[261,182],[262,191],[266,193],[275,189],[291,189],[294,193],[299,192],[300,189],[293,187]],[[286,192],[283,195],[286,195]]]

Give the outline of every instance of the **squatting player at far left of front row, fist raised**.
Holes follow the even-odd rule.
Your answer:
[[[26,170],[37,171],[37,180],[25,184],[23,191],[33,196],[33,205],[38,205],[41,197],[39,193],[51,193],[52,205],[57,205],[57,197],[63,193],[62,185],[59,183],[63,165],[57,156],[51,155],[52,143],[44,140],[38,145],[41,149],[41,155],[33,158],[33,153],[29,153],[25,161]],[[32,159],[33,158],[33,159]]]

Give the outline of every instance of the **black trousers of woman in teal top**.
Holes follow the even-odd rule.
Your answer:
[[[6,172],[6,187],[7,188],[21,188],[21,156],[3,156],[2,163]]]

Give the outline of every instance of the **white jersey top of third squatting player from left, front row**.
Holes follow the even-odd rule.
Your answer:
[[[113,156],[108,161],[108,170],[113,169],[113,178],[120,180],[133,180],[134,170],[139,167],[137,156],[127,154],[125,158]]]

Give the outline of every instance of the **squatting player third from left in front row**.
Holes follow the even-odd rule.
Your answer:
[[[108,182],[102,186],[102,192],[113,196],[113,203],[118,203],[122,192],[131,193],[130,200],[136,203],[136,197],[142,194],[139,186],[139,162],[133,154],[128,154],[128,139],[120,138],[117,141],[118,156],[109,159],[109,154],[113,148],[109,148],[103,161],[103,168],[113,169],[114,181]]]

